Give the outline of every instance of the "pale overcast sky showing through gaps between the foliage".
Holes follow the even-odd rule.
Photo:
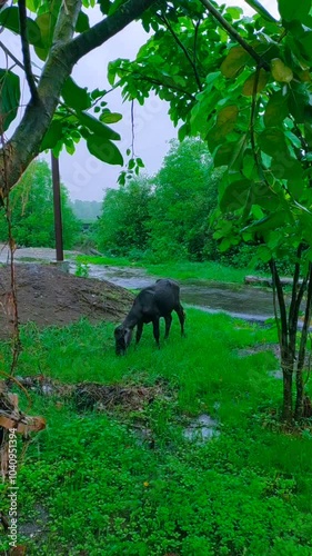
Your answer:
[[[246,14],[253,13],[244,0],[223,0],[222,3],[240,6]],[[261,3],[273,16],[278,16],[276,0],[262,0]],[[88,10],[88,14],[91,23],[99,18],[97,8]],[[108,62],[117,58],[134,58],[147,38],[147,33],[139,23],[131,23],[121,33],[80,60],[74,67],[73,79],[81,87],[88,86],[89,90],[97,87],[99,89],[109,89],[110,86],[107,81]],[[3,39],[7,39],[4,40],[7,46],[20,58],[19,37],[13,37],[12,33],[2,33],[1,40]],[[3,57],[0,54],[1,67],[3,67],[2,61]],[[26,102],[28,99],[26,82],[22,82],[22,89],[23,102]],[[122,120],[112,127],[121,135],[121,141],[118,142],[118,146],[125,153],[125,150],[131,146],[130,103],[122,102],[120,90],[111,92],[107,100],[111,111],[123,115]],[[149,175],[155,173],[161,167],[162,159],[169,149],[170,139],[177,137],[177,129],[173,128],[167,112],[168,105],[157,97],[148,99],[143,107],[138,103],[134,107],[135,155],[143,159],[145,171]],[[107,188],[117,187],[120,170],[120,167],[104,165],[92,157],[83,141],[77,146],[73,156],[67,152],[62,152],[60,156],[61,179],[73,200],[101,201]]]

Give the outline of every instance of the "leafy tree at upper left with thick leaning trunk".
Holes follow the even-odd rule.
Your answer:
[[[111,113],[102,100],[105,91],[88,92],[70,78],[73,66],[88,52],[103,44],[131,21],[140,18],[155,0],[99,0],[102,20],[90,27],[81,0],[19,0],[18,7],[1,3],[0,26],[19,33],[23,62],[21,63],[0,42],[12,68],[0,69],[0,193],[6,197],[36,156],[53,148],[56,152],[66,145],[74,150],[74,142],[85,138],[90,152],[102,161],[122,165],[115,147],[120,136],[108,123],[118,121],[120,115]],[[83,7],[94,6],[83,0]],[[27,9],[32,18],[27,17]],[[149,14],[147,14],[149,19]],[[31,47],[44,62],[37,77],[31,63]],[[12,137],[6,142],[4,132],[17,118],[20,105],[20,79],[13,71],[19,66],[26,75],[30,101]],[[38,67],[36,67],[36,73]],[[99,102],[102,105],[98,106]],[[99,113],[97,119],[88,110]]]

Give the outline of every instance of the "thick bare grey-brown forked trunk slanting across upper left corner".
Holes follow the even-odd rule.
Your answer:
[[[72,40],[81,0],[63,2],[54,30],[53,44],[38,85],[40,103],[29,102],[10,141],[0,150],[0,196],[8,195],[40,151],[40,145],[59,103],[62,87],[73,64],[103,44],[128,23],[139,18],[155,0],[128,0],[112,16]],[[7,161],[7,180],[3,163]]]

